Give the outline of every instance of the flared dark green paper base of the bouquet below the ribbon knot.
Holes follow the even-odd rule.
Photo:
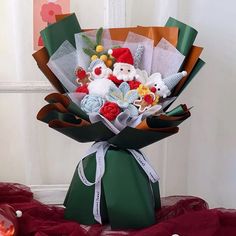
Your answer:
[[[83,160],[84,172],[94,181],[95,154]],[[112,229],[135,229],[155,224],[155,210],[160,208],[158,182],[151,183],[132,154],[118,148],[109,148],[105,156],[105,174],[102,178],[100,212],[102,223]],[[64,206],[65,218],[80,224],[97,224],[93,215],[94,186],[85,186],[76,168]]]

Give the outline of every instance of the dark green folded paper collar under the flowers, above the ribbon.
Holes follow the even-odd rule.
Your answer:
[[[48,110],[48,107],[52,107],[51,104],[42,108],[37,118],[48,123],[49,127],[78,142],[107,141],[109,144],[122,149],[141,149],[178,132],[177,127],[168,127],[160,132],[126,127],[115,135],[102,122],[90,124],[89,126],[76,126],[80,123],[80,120],[76,119],[74,115],[62,113],[56,110],[57,107],[45,113],[44,110]],[[45,114],[41,115],[42,113]],[[70,122],[74,126],[63,127],[60,121]],[[135,142],[133,137],[135,137]]]

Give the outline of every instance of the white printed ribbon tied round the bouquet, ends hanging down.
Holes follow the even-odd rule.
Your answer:
[[[108,142],[94,143],[89,148],[86,155],[80,160],[79,165],[78,165],[78,175],[81,181],[86,186],[95,185],[94,201],[93,201],[93,215],[94,215],[94,219],[100,224],[102,224],[101,213],[100,213],[101,180],[105,172],[105,155],[110,146],[111,144],[109,144]],[[153,183],[159,181],[160,178],[158,174],[148,163],[145,155],[142,152],[140,151],[138,152],[133,149],[127,149],[127,150],[133,155],[135,160],[142,167],[144,172],[147,174],[148,178]],[[95,176],[94,182],[88,181],[88,179],[86,178],[84,174],[84,168],[83,168],[83,159],[87,157],[88,155],[91,155],[92,153],[96,153],[96,176]]]

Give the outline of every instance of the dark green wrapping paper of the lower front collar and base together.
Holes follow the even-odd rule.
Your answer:
[[[72,101],[65,95],[54,93],[45,100],[49,104],[39,111],[39,120],[76,141],[106,141],[111,144],[105,154],[105,173],[101,182],[99,209],[102,223],[109,223],[113,229],[143,228],[154,224],[155,211],[161,206],[159,183],[150,181],[127,149],[138,150],[177,133],[178,128],[173,123],[173,127],[168,124],[161,129],[157,125],[156,130],[127,127],[116,135],[102,122],[81,126],[87,121],[77,116],[77,110],[71,109]],[[183,105],[178,106],[169,117],[182,115],[183,121],[186,119],[186,109]],[[158,124],[155,119],[152,123],[154,126]],[[95,153],[85,157],[82,162],[86,178],[94,182],[97,167]],[[85,225],[97,224],[93,215],[94,193],[95,186],[84,185],[77,167],[64,202],[65,218]]]

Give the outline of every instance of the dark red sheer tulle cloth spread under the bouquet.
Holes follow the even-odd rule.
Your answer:
[[[236,236],[236,210],[208,209],[197,197],[162,198],[157,223],[138,231],[112,231],[109,226],[84,226],[63,219],[63,208],[33,199],[26,186],[0,183],[0,204],[8,203],[23,215],[18,219],[20,236]]]

